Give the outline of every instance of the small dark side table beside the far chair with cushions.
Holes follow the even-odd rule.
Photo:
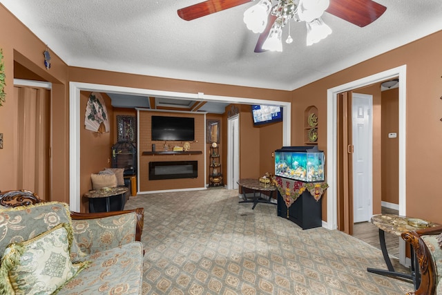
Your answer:
[[[84,197],[89,199],[89,212],[122,211],[126,204],[127,187],[113,187],[88,191]]]

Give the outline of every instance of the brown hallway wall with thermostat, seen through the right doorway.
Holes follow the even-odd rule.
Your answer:
[[[399,166],[399,124],[398,88],[382,93],[382,200],[392,204],[399,203],[398,166]],[[388,138],[395,132],[398,137]]]

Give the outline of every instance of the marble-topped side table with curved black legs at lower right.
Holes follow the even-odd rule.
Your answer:
[[[382,254],[385,260],[385,264],[387,264],[387,269],[374,269],[367,268],[367,272],[372,272],[374,274],[381,274],[383,276],[396,276],[400,278],[407,278],[412,280],[414,288],[418,289],[421,284],[421,276],[419,273],[419,263],[416,260],[415,253],[413,248],[410,245],[411,251],[411,272],[410,274],[403,274],[401,272],[396,272],[392,265],[392,261],[388,256],[387,246],[385,245],[385,231],[390,234],[394,234],[401,237],[401,234],[405,231],[417,231],[422,229],[422,227],[414,227],[409,224],[409,220],[414,218],[408,218],[405,216],[398,216],[396,214],[376,214],[372,216],[372,224],[376,225],[379,229],[379,242],[381,244]],[[425,220],[422,220],[425,221]],[[432,222],[426,222],[428,226],[434,227],[436,224]]]

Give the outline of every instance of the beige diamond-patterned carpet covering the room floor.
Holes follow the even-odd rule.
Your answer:
[[[208,189],[131,197],[144,207],[143,294],[405,294],[412,284],[370,274],[378,250],[323,228],[302,231],[273,204],[238,204]]]

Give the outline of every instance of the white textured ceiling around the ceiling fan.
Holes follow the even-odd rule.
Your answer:
[[[288,91],[442,29],[441,0],[378,0],[387,10],[365,28],[325,12],[327,39],[307,47],[305,24],[292,23],[282,53],[254,53],[258,35],[242,21],[253,3],[177,16],[198,2],[0,0],[69,66]]]

